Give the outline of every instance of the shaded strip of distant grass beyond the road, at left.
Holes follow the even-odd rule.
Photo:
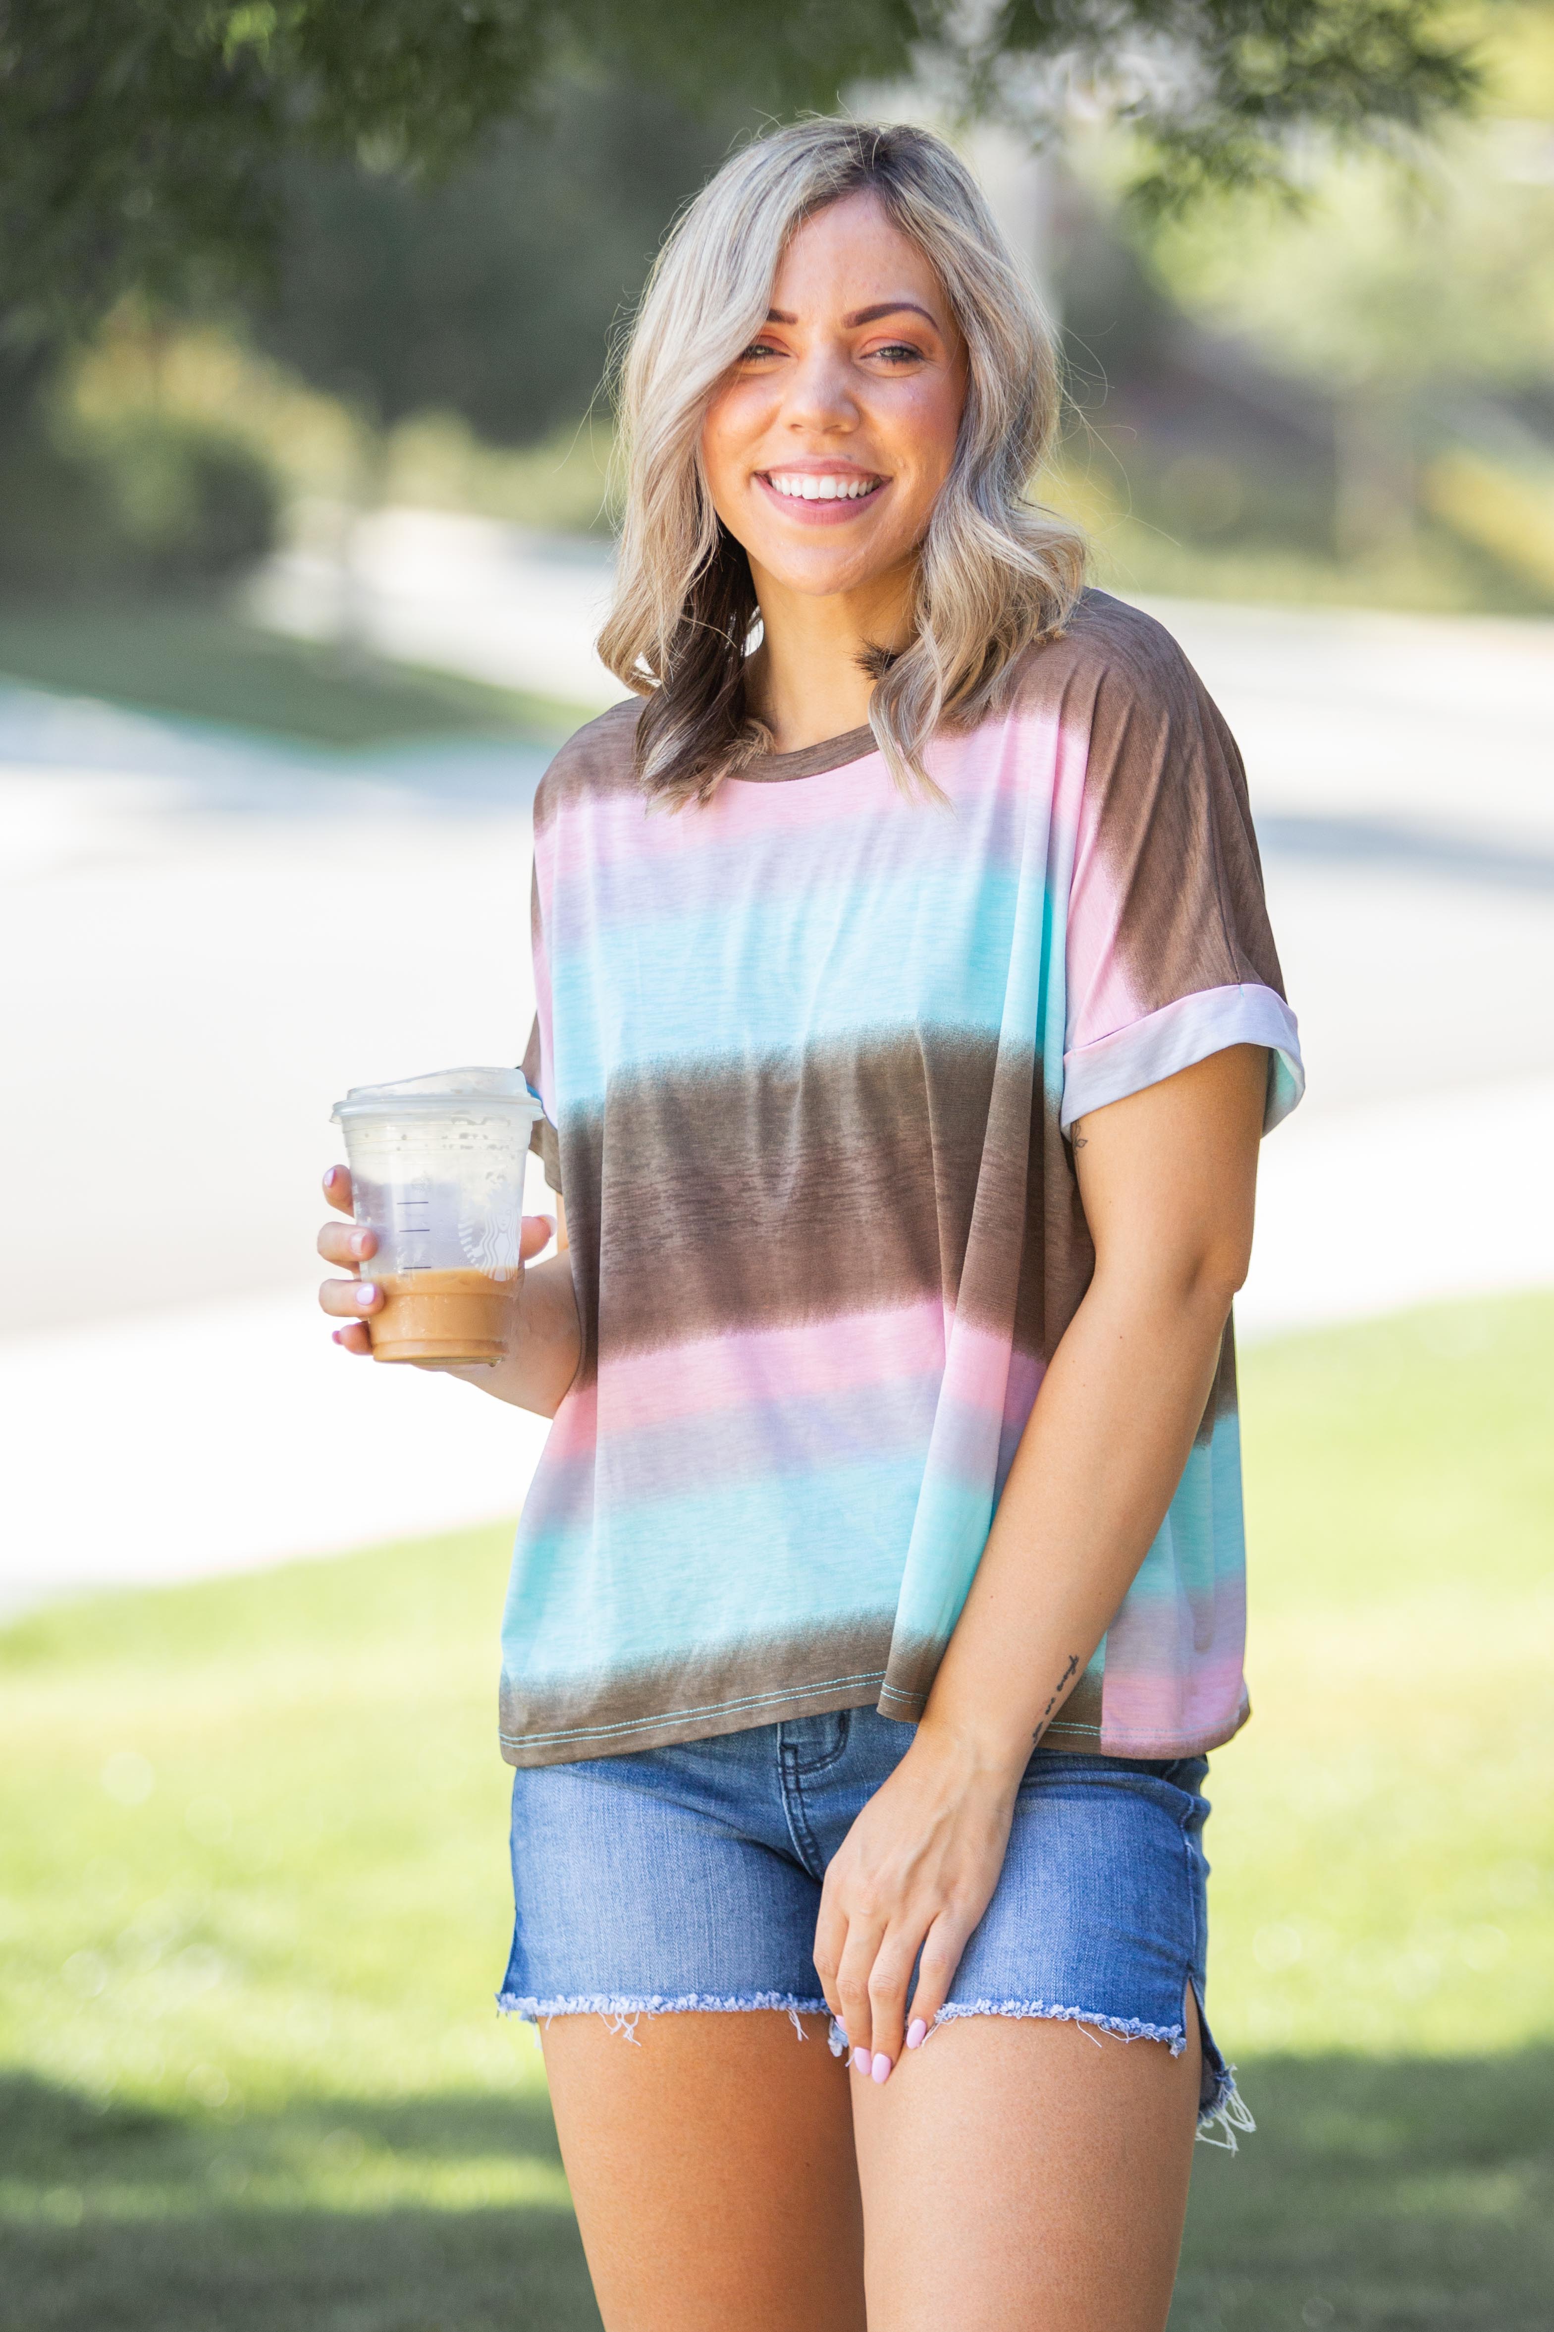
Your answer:
[[[0,679],[326,746],[468,732],[559,744],[587,718],[447,672],[347,660],[221,606],[0,609]]]

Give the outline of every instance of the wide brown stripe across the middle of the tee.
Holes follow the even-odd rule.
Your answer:
[[[1037,1061],[979,1031],[617,1077],[564,1117],[561,1187],[585,1378],[925,1294],[1048,1353],[1093,1269]]]

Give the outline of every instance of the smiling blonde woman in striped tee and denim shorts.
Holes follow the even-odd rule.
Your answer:
[[[960,161],[843,121],[725,166],[624,366],[634,697],[536,802],[571,1245],[468,1371],[555,1416],[501,2001],[610,2332],[1160,2327],[1246,2127],[1202,1777],[1300,1056],[1235,744],[1023,499],[1053,406]]]

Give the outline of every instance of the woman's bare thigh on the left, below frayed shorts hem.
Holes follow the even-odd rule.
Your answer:
[[[606,2332],[864,2332],[848,2071],[780,2010],[541,2027]]]

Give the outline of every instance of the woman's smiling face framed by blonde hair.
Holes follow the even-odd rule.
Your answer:
[[[762,606],[902,592],[965,394],[944,285],[876,196],[806,219],[701,429],[713,506],[750,555]]]

